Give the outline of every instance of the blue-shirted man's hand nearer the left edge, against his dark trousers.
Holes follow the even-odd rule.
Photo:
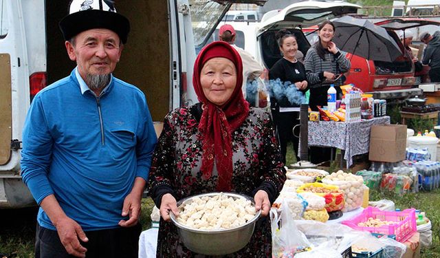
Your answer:
[[[63,217],[56,222],[56,231],[60,237],[61,244],[63,244],[69,255],[76,257],[85,257],[87,249],[81,246],[80,239],[83,242],[89,241],[86,237],[83,228],[69,217]]]

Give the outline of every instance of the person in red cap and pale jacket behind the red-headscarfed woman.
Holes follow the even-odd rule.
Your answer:
[[[243,85],[241,86],[241,90],[243,92],[243,96],[246,99],[246,84],[248,82],[252,82],[256,78],[259,78],[261,73],[263,72],[263,67],[257,62],[249,52],[243,50],[243,48],[235,45],[236,32],[234,27],[230,24],[221,25],[219,30],[219,39],[220,41],[225,41],[234,47],[236,52],[239,52],[241,57],[241,61],[243,62]]]

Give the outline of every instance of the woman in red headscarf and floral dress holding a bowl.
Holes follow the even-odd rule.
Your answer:
[[[201,50],[192,83],[199,103],[171,111],[164,120],[149,174],[149,193],[161,221],[157,257],[194,257],[169,223],[176,200],[228,191],[254,197],[263,215],[245,248],[231,257],[271,257],[267,214],[285,182],[285,169],[270,115],[243,98],[239,54],[222,41]],[[197,256],[198,257],[198,256]]]

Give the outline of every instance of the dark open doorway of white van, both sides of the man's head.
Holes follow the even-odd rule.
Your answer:
[[[65,50],[58,22],[67,14],[69,1],[50,1],[47,17],[47,81],[63,78],[74,69]],[[164,120],[170,110],[170,48],[168,5],[163,0],[120,0],[116,10],[129,19],[131,31],[124,45],[116,77],[139,87],[146,95],[151,116]]]

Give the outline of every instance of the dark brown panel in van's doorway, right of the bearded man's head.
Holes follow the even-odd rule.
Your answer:
[[[131,31],[114,74],[139,87],[153,120],[162,121],[170,110],[168,5],[164,0],[120,0],[116,8],[131,22]]]

